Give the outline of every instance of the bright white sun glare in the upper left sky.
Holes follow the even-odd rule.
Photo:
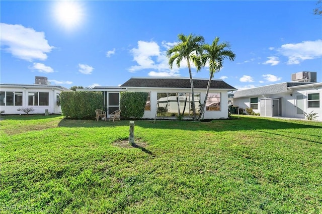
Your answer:
[[[71,30],[81,24],[83,9],[79,2],[60,1],[56,3],[54,14],[59,25]]]

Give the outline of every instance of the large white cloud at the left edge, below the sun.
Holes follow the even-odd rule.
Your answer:
[[[0,24],[1,46],[14,57],[32,62],[46,60],[54,47],[48,44],[44,32],[36,32],[22,25]]]

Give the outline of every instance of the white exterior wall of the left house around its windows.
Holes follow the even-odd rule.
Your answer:
[[[45,110],[48,109],[49,114],[61,114],[60,106],[56,105],[56,93],[60,93],[62,90],[53,88],[37,88],[37,87],[1,87],[1,91],[14,91],[22,92],[22,105],[1,105],[0,109],[5,110],[5,115],[25,114],[24,112],[17,111],[19,108],[33,108],[34,112],[29,114],[45,114]],[[28,93],[29,92],[48,92],[48,105],[28,105]]]

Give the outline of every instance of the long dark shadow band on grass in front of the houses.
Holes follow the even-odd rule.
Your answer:
[[[91,120],[61,120],[59,127],[119,127],[129,126],[129,121],[91,121]],[[213,120],[211,122],[194,121],[156,121],[137,120],[135,126],[146,129],[190,130],[190,131],[247,131],[247,130],[276,130],[276,129],[320,129],[322,123],[298,120],[282,120],[264,117],[240,117],[238,120]],[[312,133],[313,134],[313,133]]]

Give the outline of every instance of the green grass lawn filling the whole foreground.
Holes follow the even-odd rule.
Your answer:
[[[4,118],[0,212],[322,212],[319,122]]]

